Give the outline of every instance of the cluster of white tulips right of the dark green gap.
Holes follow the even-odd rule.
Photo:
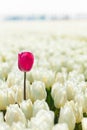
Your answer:
[[[56,108],[60,108],[58,123],[66,123],[69,130],[83,120],[87,113],[87,83],[84,75],[70,72],[62,82],[56,81],[52,86],[51,95]]]

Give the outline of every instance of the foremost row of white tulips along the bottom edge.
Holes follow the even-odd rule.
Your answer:
[[[7,107],[5,120],[2,112],[0,113],[1,130],[73,130],[75,126],[75,114],[73,112],[73,102],[67,103],[61,109],[59,122],[54,125],[54,113],[49,110],[44,100],[37,100],[33,105],[31,100],[22,103],[10,105]],[[32,109],[33,108],[33,109]],[[82,118],[82,129],[87,129],[87,118]]]

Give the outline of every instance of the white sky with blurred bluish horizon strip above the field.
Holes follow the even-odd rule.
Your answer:
[[[87,0],[0,0],[0,20],[87,18]]]

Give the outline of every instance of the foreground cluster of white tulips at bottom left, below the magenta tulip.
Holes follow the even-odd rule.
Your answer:
[[[45,100],[37,100],[32,104],[26,100],[18,104],[9,105],[5,114],[0,113],[0,128],[15,130],[51,130],[54,126],[54,113],[49,110]]]

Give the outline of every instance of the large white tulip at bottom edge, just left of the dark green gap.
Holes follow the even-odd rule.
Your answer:
[[[40,110],[36,117],[31,118],[28,123],[29,128],[39,130],[51,130],[54,124],[54,113],[52,111]]]

